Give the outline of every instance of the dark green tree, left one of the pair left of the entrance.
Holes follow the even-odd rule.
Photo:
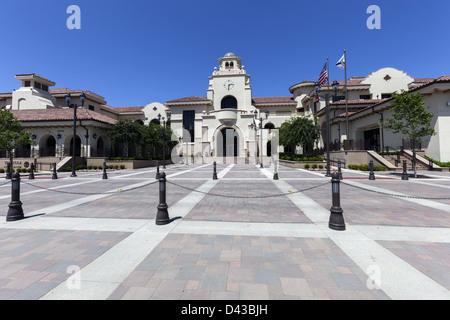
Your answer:
[[[119,120],[111,127],[111,142],[122,144],[125,147],[125,155],[128,157],[129,147],[134,143],[139,143],[142,139],[141,127],[141,124],[131,119]]]

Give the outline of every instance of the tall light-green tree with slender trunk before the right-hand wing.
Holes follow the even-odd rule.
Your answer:
[[[402,139],[411,141],[414,176],[417,176],[416,144],[422,143],[424,137],[436,134],[431,126],[434,115],[427,111],[420,93],[411,94],[402,90],[401,93],[394,92],[392,97],[392,118],[382,121],[381,124],[393,133],[400,133]]]

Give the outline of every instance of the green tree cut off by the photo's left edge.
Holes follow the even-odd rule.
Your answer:
[[[31,132],[24,131],[22,123],[9,110],[0,110],[0,150],[8,151],[11,168],[13,150],[22,145],[34,144],[31,135]]]

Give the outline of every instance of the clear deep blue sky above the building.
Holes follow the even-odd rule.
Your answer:
[[[81,30],[69,30],[69,5]],[[369,30],[369,5],[381,30]],[[347,50],[348,76],[382,67],[450,74],[449,0],[2,0],[0,92],[37,73],[55,88],[90,90],[114,107],[206,96],[227,52],[242,58],[254,97],[286,96]]]

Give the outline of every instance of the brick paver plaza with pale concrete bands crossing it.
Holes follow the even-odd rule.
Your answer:
[[[347,230],[334,231],[323,173],[280,167],[273,180],[271,168],[252,164],[217,171],[212,180],[212,165],[167,167],[173,221],[164,226],[155,224],[155,168],[108,180],[25,176],[26,219],[16,222],[5,219],[11,185],[0,186],[0,299],[450,298],[449,173],[369,181],[344,170]]]

